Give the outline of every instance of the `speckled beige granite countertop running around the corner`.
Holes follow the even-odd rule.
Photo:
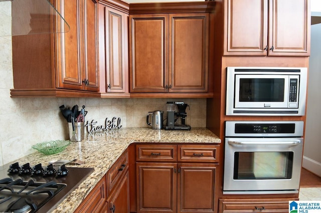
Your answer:
[[[15,161],[46,165],[55,159],[79,159],[85,163],[67,166],[94,168],[95,170],[53,211],[72,212],[133,142],[220,143],[221,140],[207,128],[192,128],[184,131],[152,130],[146,127],[119,128],[89,133],[83,141],[72,142],[64,151],[57,154],[45,155],[37,151]]]

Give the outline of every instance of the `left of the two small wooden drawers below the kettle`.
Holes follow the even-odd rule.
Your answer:
[[[177,161],[177,145],[165,144],[137,144],[137,161]]]

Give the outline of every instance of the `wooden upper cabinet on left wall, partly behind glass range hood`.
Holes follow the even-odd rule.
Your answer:
[[[57,33],[13,36],[14,96],[100,96],[95,0],[51,0],[67,21],[48,15]],[[38,4],[37,4],[38,5]],[[36,6],[33,5],[33,6]],[[19,8],[13,8],[19,11]],[[46,16],[45,16],[46,17]],[[48,22],[45,22],[48,20]],[[60,33],[63,31],[62,33]]]

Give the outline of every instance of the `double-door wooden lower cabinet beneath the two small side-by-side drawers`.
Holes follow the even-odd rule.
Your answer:
[[[137,162],[137,212],[216,212],[217,166]]]

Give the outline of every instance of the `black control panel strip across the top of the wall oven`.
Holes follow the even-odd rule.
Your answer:
[[[235,133],[294,133],[294,123],[235,123]]]

